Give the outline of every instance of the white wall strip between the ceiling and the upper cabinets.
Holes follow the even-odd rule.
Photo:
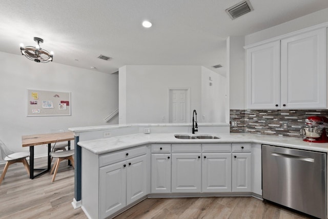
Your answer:
[[[286,33],[291,33],[296,30],[301,30],[307,27],[318,25],[328,22],[328,8],[298,17],[292,21],[279,24],[277,26],[264,29],[245,36],[245,45],[254,44],[265,39],[269,39],[275,36],[280,36]]]

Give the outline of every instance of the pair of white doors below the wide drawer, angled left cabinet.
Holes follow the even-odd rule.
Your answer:
[[[99,170],[99,214],[105,218],[147,195],[147,155]]]

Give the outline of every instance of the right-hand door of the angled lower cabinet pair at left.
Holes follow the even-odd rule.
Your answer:
[[[147,195],[147,156],[127,161],[127,205]]]

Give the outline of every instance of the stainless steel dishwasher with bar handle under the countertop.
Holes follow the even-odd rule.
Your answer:
[[[262,197],[326,218],[326,153],[262,145]]]

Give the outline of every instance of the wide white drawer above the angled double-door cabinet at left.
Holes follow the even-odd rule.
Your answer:
[[[140,156],[147,153],[147,146],[131,148],[127,150],[112,152],[99,156],[99,167],[104,167],[119,161],[124,161],[132,157]]]

